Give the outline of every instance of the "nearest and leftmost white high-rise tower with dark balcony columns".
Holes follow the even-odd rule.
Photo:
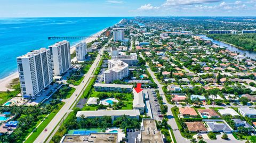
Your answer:
[[[50,49],[17,57],[21,95],[34,97],[53,81]]]

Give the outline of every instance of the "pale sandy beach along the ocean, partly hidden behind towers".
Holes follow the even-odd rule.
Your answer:
[[[92,37],[90,38],[87,38],[85,40],[82,40],[82,41],[85,41],[86,43],[90,43],[92,42],[93,40],[97,39],[96,37],[100,36],[103,32],[105,32],[107,29],[103,29],[97,33],[95,33],[94,35],[92,35]],[[77,44],[76,44],[77,45]],[[70,53],[74,53],[75,50],[76,50],[76,45],[73,45],[70,47]],[[9,86],[9,84],[12,82],[13,79],[15,78],[19,78],[19,73],[18,71],[17,72],[14,72],[12,74],[10,74],[8,77],[5,77],[3,79],[0,79],[0,91],[6,91]]]

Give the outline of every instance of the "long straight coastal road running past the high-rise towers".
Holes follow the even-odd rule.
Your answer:
[[[105,47],[101,48],[98,56],[95,58],[95,61],[93,62],[90,70],[85,74],[85,77],[83,79],[83,82],[81,82],[81,84],[79,86],[76,87],[76,90],[74,91],[73,95],[71,95],[71,97],[67,100],[66,104],[61,108],[61,110],[54,116],[54,118],[51,120],[51,122],[46,126],[45,129],[47,129],[47,131],[45,131],[45,129],[41,132],[41,134],[39,134],[39,136],[37,137],[37,139],[34,141],[35,143],[38,142],[44,142],[45,139],[50,135],[50,133],[54,130],[54,127],[60,122],[60,120],[62,119],[62,117],[68,113],[69,108],[72,106],[72,104],[74,102],[76,102],[76,99],[79,99],[81,95],[79,95],[81,93],[81,91],[87,87],[86,82],[89,81],[90,77],[93,76],[94,73],[94,69],[97,68],[99,61],[102,57],[103,51],[104,51]],[[86,87],[85,87],[86,85]],[[77,98],[78,95],[79,97]],[[54,133],[51,134],[51,136],[53,136]],[[51,140],[52,137],[49,138],[49,140],[47,140],[46,142],[49,142]]]

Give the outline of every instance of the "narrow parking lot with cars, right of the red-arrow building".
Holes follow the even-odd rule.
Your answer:
[[[162,121],[163,117],[159,117],[159,115],[161,115],[161,111],[160,111],[160,105],[156,98],[156,92],[154,89],[147,89],[147,90],[148,90],[149,102],[151,105],[153,118],[157,121]]]

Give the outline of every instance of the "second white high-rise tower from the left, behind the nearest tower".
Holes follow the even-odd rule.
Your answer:
[[[58,76],[71,68],[70,44],[69,41],[59,41],[49,46],[51,51],[53,75]]]

